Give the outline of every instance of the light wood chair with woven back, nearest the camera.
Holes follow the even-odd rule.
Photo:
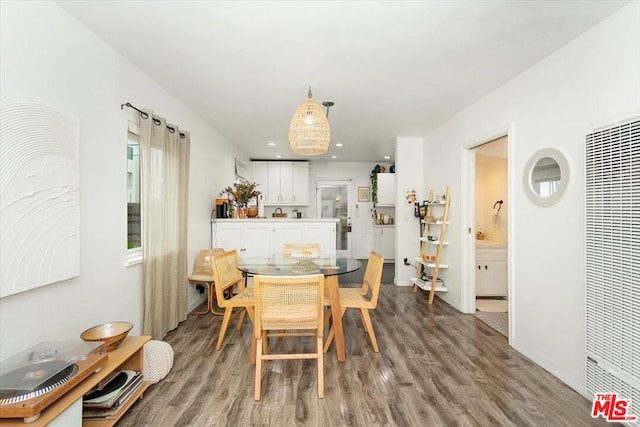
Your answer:
[[[318,397],[324,397],[322,352],[324,276],[254,277],[256,338],[255,400],[260,400],[262,362],[282,359],[316,359]],[[313,353],[277,353],[268,351],[269,337],[315,337]],[[263,344],[265,348],[263,349]],[[266,350],[266,351],[265,351]]]

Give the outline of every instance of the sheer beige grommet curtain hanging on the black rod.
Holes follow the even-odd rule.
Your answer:
[[[145,110],[140,118],[143,333],[162,339],[187,317],[190,136]]]

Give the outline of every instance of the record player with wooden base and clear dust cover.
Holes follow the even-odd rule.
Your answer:
[[[103,342],[42,342],[0,362],[0,419],[33,422],[107,362]],[[1,423],[0,423],[1,424]]]

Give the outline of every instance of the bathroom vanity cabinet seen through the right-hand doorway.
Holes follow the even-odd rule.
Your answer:
[[[506,249],[476,249],[476,296],[507,296]]]

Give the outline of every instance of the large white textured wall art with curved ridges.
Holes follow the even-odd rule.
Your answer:
[[[0,99],[0,298],[80,271],[79,122]]]

